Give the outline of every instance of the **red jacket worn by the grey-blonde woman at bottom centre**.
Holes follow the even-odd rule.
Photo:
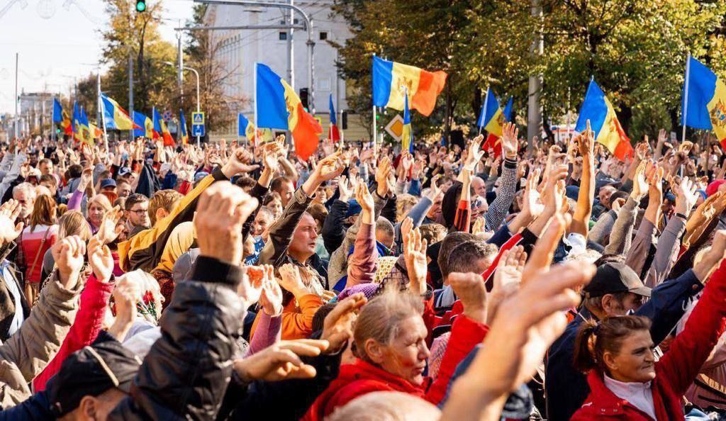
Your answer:
[[[476,344],[484,340],[488,330],[484,324],[474,322],[467,316],[457,317],[452,325],[449,346],[441,361],[439,377],[433,383],[431,377],[426,377],[422,385],[414,385],[361,359],[356,359],[354,364],[343,364],[340,366],[338,378],[318,396],[302,420],[322,421],[338,406],[343,406],[358,396],[378,391],[410,393],[432,404],[438,404],[446,393],[454,369]]]

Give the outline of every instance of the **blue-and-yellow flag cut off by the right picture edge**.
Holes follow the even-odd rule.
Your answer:
[[[726,149],[726,85],[693,57],[685,65],[681,124],[712,129]]]

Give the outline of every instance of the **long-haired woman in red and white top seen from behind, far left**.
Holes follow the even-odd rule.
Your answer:
[[[40,195],[30,213],[30,226],[20,234],[20,251],[25,259],[25,298],[35,301],[41,282],[43,256],[50,250],[58,237],[55,200],[49,195]],[[32,306],[32,304],[31,304]]]

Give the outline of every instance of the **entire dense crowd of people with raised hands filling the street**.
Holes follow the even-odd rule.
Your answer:
[[[726,419],[717,142],[483,141],[3,145],[0,420]]]

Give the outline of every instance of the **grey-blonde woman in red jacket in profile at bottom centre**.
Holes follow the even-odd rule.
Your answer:
[[[481,281],[479,281],[481,282]],[[421,298],[386,292],[363,306],[353,332],[353,364],[340,366],[338,378],[316,399],[303,420],[321,421],[335,408],[376,391],[399,391],[438,404],[454,369],[481,343],[487,327],[465,314],[452,326],[439,377],[423,375],[430,355]]]

